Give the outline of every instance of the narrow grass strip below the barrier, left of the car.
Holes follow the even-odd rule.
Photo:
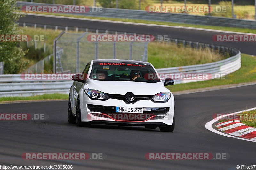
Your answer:
[[[20,100],[56,100],[56,99],[67,99],[67,94],[44,94],[37,96],[29,96],[29,97],[0,97],[0,103],[3,101],[20,101]]]

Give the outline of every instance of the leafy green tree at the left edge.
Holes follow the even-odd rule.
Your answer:
[[[0,1],[0,35],[21,35],[22,30],[16,23],[22,14],[15,13],[19,7],[15,0]],[[28,65],[24,59],[26,51],[20,47],[20,42],[0,42],[0,61],[4,62],[4,74],[17,74]]]

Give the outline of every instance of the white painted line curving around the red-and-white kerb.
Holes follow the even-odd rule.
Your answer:
[[[256,107],[253,107],[253,108],[251,108],[251,109],[242,110],[242,111],[235,112],[235,113],[231,113],[231,114],[236,115],[236,114],[238,114],[238,113],[247,112],[247,111],[251,111],[251,110],[255,110],[255,109],[256,109]],[[227,114],[227,116],[228,116],[228,115],[229,115],[229,114]],[[214,129],[214,128],[212,127],[213,124],[214,124],[215,122],[217,122],[218,120],[220,120],[221,118],[223,118],[223,117],[224,117],[224,115],[221,115],[221,116],[219,116],[219,117],[217,117],[217,118],[215,118],[215,119],[212,119],[210,122],[208,122],[208,123],[205,124],[205,128],[208,129],[208,130],[210,130],[210,131],[212,131],[213,133],[217,133],[217,134],[219,134],[219,135],[223,135],[223,136],[226,136],[226,137],[232,137],[232,138],[236,138],[236,139],[241,139],[241,140],[256,142],[256,137],[255,137],[255,138],[252,138],[252,139],[246,139],[246,138],[242,138],[242,137],[235,137],[235,136],[231,136],[231,135],[229,135],[229,134],[226,134],[226,133],[223,133],[223,132],[220,132],[220,131]]]

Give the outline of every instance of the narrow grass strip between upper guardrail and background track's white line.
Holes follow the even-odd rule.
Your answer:
[[[38,13],[38,14],[42,14],[42,13]],[[59,14],[59,13],[44,13],[44,14],[55,15],[55,16],[75,17],[75,18],[88,18],[88,19],[101,19],[101,20],[134,22],[134,23],[145,23],[145,24],[157,24],[157,25],[167,25],[167,26],[185,26],[185,27],[193,27],[193,28],[234,31],[234,32],[241,32],[241,33],[256,33],[255,29],[248,29],[248,28],[231,28],[231,27],[224,27],[224,26],[204,26],[204,25],[183,24],[183,23],[173,23],[173,22],[145,21],[145,20],[128,19],[128,18],[122,19],[122,18],[106,18],[106,17],[88,17],[88,16],[68,15],[68,14]]]

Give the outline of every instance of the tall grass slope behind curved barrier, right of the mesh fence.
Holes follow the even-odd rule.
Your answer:
[[[182,45],[177,46],[175,43],[148,44],[148,62],[156,69],[211,63],[225,58],[219,53],[213,53],[209,48],[197,50],[189,47],[184,49]]]

